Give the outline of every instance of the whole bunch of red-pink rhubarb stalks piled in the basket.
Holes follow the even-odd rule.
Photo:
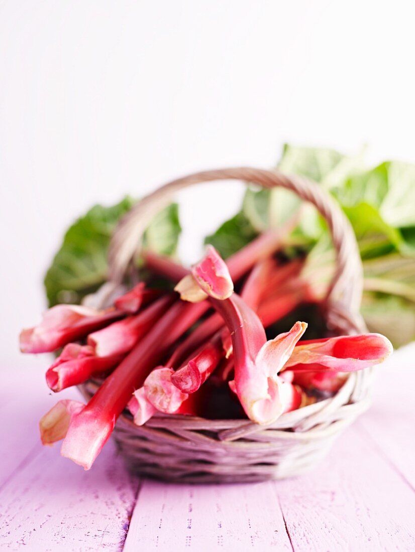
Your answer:
[[[90,469],[123,412],[138,425],[160,412],[269,425],[387,358],[391,343],[377,333],[304,341],[307,322],[296,321],[276,335],[288,314],[320,300],[304,259],[280,246],[268,231],[226,262],[208,246],[190,269],[148,250],[145,280],[111,306],[52,306],[22,331],[20,348],[57,351],[52,391],[99,386],[88,404],[57,402],[40,420],[42,442],[63,439],[61,454]]]

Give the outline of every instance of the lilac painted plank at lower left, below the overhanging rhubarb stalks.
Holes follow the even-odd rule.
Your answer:
[[[122,550],[137,486],[112,441],[90,471],[62,458],[59,447],[43,448],[0,492],[2,546]]]

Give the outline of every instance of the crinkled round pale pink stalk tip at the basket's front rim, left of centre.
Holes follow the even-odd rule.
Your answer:
[[[153,370],[144,382],[145,394],[151,404],[160,412],[174,413],[188,398],[171,381],[172,368],[160,367]]]

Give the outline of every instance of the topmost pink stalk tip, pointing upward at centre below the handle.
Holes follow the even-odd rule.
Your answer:
[[[228,299],[233,294],[228,267],[211,245],[207,246],[203,259],[192,267],[192,275],[201,289],[214,299]]]

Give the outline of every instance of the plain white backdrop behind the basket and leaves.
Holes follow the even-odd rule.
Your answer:
[[[271,167],[284,141],[415,161],[414,15],[410,0],[0,1],[3,364],[33,363],[19,329],[94,202]],[[186,227],[237,208],[239,188],[209,190],[197,211],[187,200]]]

